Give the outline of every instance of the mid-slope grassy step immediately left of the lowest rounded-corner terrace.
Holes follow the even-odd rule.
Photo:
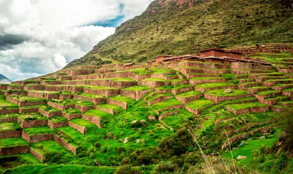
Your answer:
[[[181,108],[183,107],[183,104],[173,97],[163,102],[154,103],[150,107],[158,114],[165,110]]]

